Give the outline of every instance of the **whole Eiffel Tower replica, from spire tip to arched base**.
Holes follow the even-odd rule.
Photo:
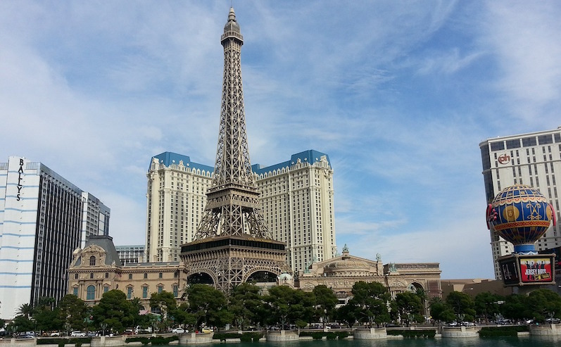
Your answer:
[[[286,263],[286,245],[272,239],[260,211],[251,171],[241,86],[244,37],[234,8],[230,8],[220,43],[224,47],[224,77],[213,182],[194,241],[182,245],[181,259],[188,284],[202,274],[212,279],[216,289],[227,293],[258,275],[276,278],[291,274],[291,269]]]

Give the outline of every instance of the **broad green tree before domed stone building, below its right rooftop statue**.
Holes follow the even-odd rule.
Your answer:
[[[391,295],[386,286],[379,282],[355,282],[353,284],[353,298],[348,304],[355,305],[361,310],[359,322],[367,322],[370,327],[372,323],[377,325],[389,322],[388,303]]]

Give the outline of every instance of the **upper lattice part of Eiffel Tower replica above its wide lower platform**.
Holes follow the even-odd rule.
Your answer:
[[[241,84],[240,56],[244,37],[234,8],[230,8],[220,43],[224,47],[224,75],[218,148],[205,214],[195,239],[247,234],[272,239],[260,213],[259,193],[249,160]]]

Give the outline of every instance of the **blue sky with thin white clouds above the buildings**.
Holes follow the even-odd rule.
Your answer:
[[[213,165],[232,1],[0,1],[0,161],[41,161],[143,244],[151,156]],[[561,125],[558,1],[234,1],[251,163],[315,149],[336,242],[493,277],[479,142]]]

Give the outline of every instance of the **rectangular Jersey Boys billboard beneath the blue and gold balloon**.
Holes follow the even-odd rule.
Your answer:
[[[555,254],[512,254],[498,263],[505,286],[555,284]]]

